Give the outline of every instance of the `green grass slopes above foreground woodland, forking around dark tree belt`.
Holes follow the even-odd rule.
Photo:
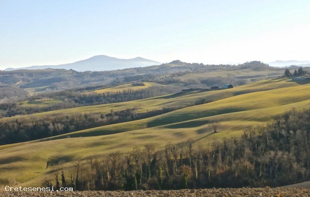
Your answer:
[[[142,120],[0,146],[0,183],[7,183],[11,177],[21,185],[37,186],[51,176],[52,168],[46,169],[48,161],[57,163],[63,160],[66,162],[64,167],[70,168],[70,161],[85,160],[95,153],[104,156],[115,151],[127,152],[146,143],[153,143],[160,149],[168,142],[180,144],[191,138],[196,146],[208,146],[214,140],[240,135],[249,126],[265,125],[274,116],[292,108],[310,108],[309,91],[310,84],[299,85],[286,79],[263,80],[226,90],[171,94],[24,116],[35,118],[53,113],[108,112],[110,109],[132,107],[143,112],[185,106],[201,99],[207,102]],[[212,121],[220,122],[218,133],[213,133]]]

